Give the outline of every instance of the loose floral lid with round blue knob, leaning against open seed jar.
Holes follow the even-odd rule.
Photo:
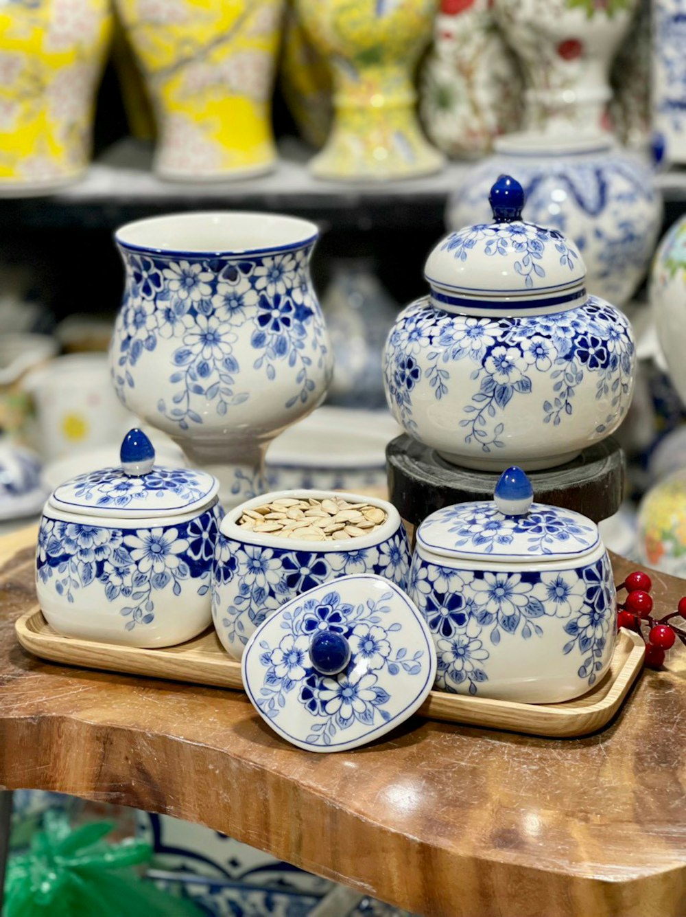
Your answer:
[[[395,583],[344,576],[260,624],[242,669],[250,701],[278,735],[308,751],[344,751],[415,713],[436,677],[436,650]]]

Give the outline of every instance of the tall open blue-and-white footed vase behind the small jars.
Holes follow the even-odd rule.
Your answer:
[[[159,216],[115,239],[125,293],[110,349],[122,403],[220,481],[224,506],[263,489],[264,452],[332,378],[310,282],[317,227],[289,216]]]

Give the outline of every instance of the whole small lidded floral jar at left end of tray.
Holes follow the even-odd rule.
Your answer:
[[[66,636],[183,643],[212,622],[219,483],[155,465],[140,430],[125,436],[121,455],[121,467],[80,474],[50,495],[38,529],[38,602]]]

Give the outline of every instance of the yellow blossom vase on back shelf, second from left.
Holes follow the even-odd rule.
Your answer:
[[[116,0],[172,181],[259,175],[277,160],[271,95],[284,0]]]

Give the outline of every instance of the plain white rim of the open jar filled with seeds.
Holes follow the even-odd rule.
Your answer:
[[[350,538],[346,541],[310,541],[306,538],[279,538],[270,532],[256,532],[237,524],[237,520],[244,514],[245,510],[251,510],[256,506],[264,506],[265,503],[273,503],[275,500],[286,497],[294,500],[307,500],[308,497],[313,497],[315,500],[332,500],[335,497],[340,497],[348,503],[369,503],[370,506],[377,506],[379,509],[384,510],[387,514],[387,520],[369,535]],[[224,537],[244,544],[278,547],[287,551],[309,551],[310,554],[315,554],[332,551],[341,553],[343,551],[363,550],[366,547],[376,547],[376,545],[394,536],[400,525],[402,525],[400,514],[393,503],[388,503],[387,500],[349,491],[308,490],[300,487],[289,491],[263,493],[260,496],[253,497],[251,500],[246,500],[245,503],[239,503],[238,506],[235,506],[233,510],[230,510],[223,517],[219,531]]]

